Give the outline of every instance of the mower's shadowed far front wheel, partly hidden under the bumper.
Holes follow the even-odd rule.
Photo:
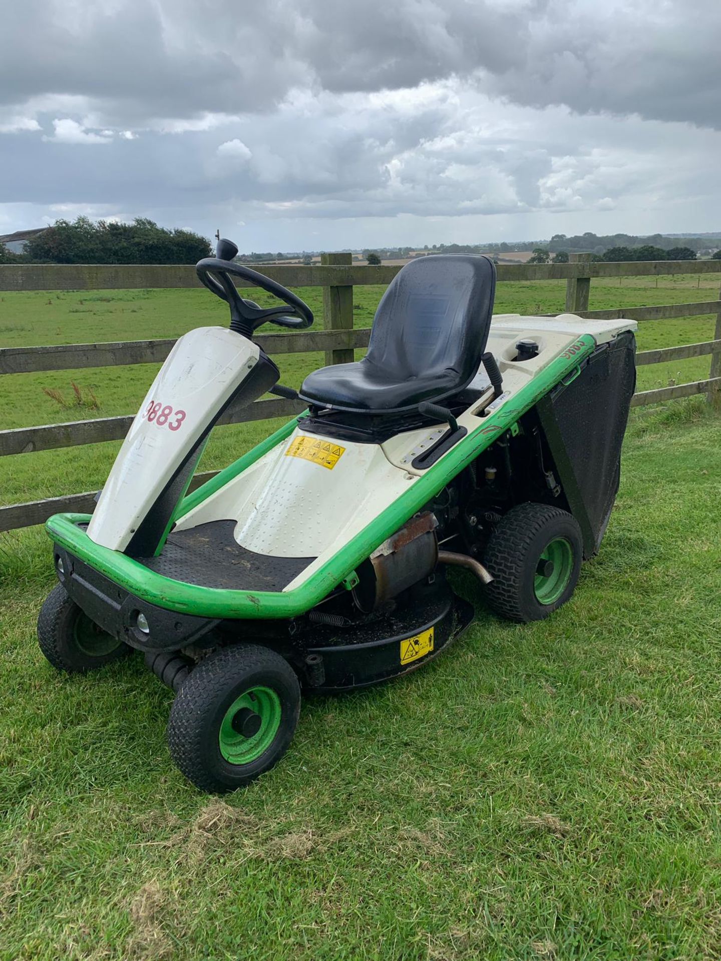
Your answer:
[[[56,584],[37,616],[37,643],[53,667],[84,674],[132,653],[133,649],[94,624]]]

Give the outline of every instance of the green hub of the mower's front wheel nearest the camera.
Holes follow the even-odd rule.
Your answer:
[[[218,745],[231,764],[250,764],[268,750],[281,726],[281,699],[270,687],[251,687],[225,712]]]

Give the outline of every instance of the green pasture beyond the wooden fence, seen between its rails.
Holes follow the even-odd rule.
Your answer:
[[[715,279],[697,277],[628,278],[594,280],[591,308],[619,305],[638,307],[708,300],[718,291]],[[354,290],[356,327],[369,327],[383,287],[358,286]],[[310,304],[316,327],[322,327],[322,291],[300,288]],[[258,292],[252,295],[263,301]],[[499,283],[497,313],[549,313],[561,311],[565,282]],[[267,303],[270,300],[267,299]],[[110,290],[91,292],[35,291],[0,295],[0,347],[39,344],[69,344],[89,341],[139,340],[175,337],[207,324],[225,324],[227,310],[205,290]],[[278,331],[279,328],[274,330]],[[708,340],[713,333],[710,317],[643,323],[638,332],[641,350]],[[361,352],[358,352],[358,357]],[[324,362],[321,354],[278,357],[283,382],[299,386],[309,371]],[[2,428],[60,423],[90,417],[110,417],[133,412],[142,400],[158,365],[57,371],[0,378],[0,425]],[[700,357],[639,370],[640,389],[665,386],[669,382],[700,380],[708,376],[709,358]],[[97,409],[76,407],[72,383],[91,390]],[[59,391],[68,407],[43,393]],[[223,466],[257,442],[273,425],[249,424],[215,432],[202,469]],[[88,445],[63,451],[0,458],[0,502],[54,497],[95,489],[103,483],[118,442]]]

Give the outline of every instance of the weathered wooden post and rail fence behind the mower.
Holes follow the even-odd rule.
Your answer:
[[[271,357],[277,354],[299,354],[324,351],[326,364],[346,363],[354,359],[354,351],[368,345],[370,329],[353,327],[353,287],[387,284],[401,269],[397,266],[354,265],[350,254],[324,254],[319,266],[267,265],[260,272],[287,287],[320,286],[323,288],[324,330],[303,333],[262,333],[256,336],[262,349]],[[663,363],[689,357],[710,357],[709,377],[703,381],[646,390],[634,395],[632,404],[639,407],[659,401],[706,394],[709,403],[721,407],[721,299],[695,304],[672,304],[659,307],[614,308],[589,310],[588,296],[592,278],[638,277],[698,274],[721,278],[721,260],[659,260],[647,262],[591,263],[590,255],[571,255],[569,263],[500,264],[499,282],[565,280],[565,309],[585,318],[613,320],[661,320],[699,315],[713,315],[713,339],[697,344],[642,351],[636,363]],[[147,265],[73,265],[73,264],[3,264],[0,265],[0,291],[25,290],[111,290],[197,287],[200,283],[192,266]],[[720,295],[721,296],[721,295]],[[546,316],[555,316],[547,314]],[[75,370],[78,368],[115,367],[123,364],[160,363],[168,356],[174,340],[134,340],[115,343],[62,344],[49,347],[0,348],[0,376],[39,371]],[[303,408],[297,401],[256,401],[247,407],[229,407],[219,424],[291,417]],[[81,444],[96,444],[122,439],[134,414],[123,417],[98,417],[50,424],[40,427],[0,431],[0,456],[30,454]],[[208,480],[216,472],[198,474],[193,487]],[[192,489],[192,487],[191,487]],[[95,491],[34,501],[29,504],[0,506],[0,531],[42,524],[59,511],[90,512]]]

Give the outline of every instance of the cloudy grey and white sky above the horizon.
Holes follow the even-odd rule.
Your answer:
[[[7,0],[0,233],[721,230],[720,47],[721,0]]]

